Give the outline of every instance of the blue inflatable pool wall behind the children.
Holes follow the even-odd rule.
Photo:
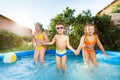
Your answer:
[[[27,50],[27,51],[16,51],[14,52],[17,56],[17,58],[19,57],[24,57],[24,56],[30,56],[34,54],[34,50]],[[82,53],[82,51],[80,52],[80,54]],[[120,52],[115,52],[115,51],[106,51],[106,53],[108,54],[108,56],[110,57],[109,59],[106,58],[101,50],[96,50],[96,54],[97,54],[97,60],[99,62],[106,62],[109,64],[116,64],[116,65],[120,65]],[[0,61],[2,61],[3,56],[6,53],[0,54]],[[46,50],[45,54],[55,54],[55,50]],[[72,51],[67,50],[67,54],[68,55],[74,55]]]

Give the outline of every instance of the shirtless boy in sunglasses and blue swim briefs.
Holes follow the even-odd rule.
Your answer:
[[[56,42],[56,68],[59,72],[60,66],[62,66],[62,71],[64,73],[66,70],[66,48],[69,48],[73,52],[75,52],[75,50],[69,44],[69,37],[64,35],[65,25],[63,23],[57,23],[56,30],[58,34],[54,36],[52,41],[43,44],[52,45]]]

